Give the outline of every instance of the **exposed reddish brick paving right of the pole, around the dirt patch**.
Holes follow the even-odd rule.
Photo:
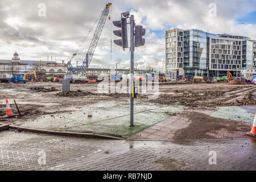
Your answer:
[[[148,127],[147,129],[139,131],[138,133],[131,135],[131,137],[129,138],[130,139],[151,139],[151,140],[172,140],[175,137],[176,131],[187,128],[189,127],[189,124],[191,124],[191,121],[184,116],[185,114],[187,114],[188,112],[193,112],[193,113],[196,112],[196,113],[203,113],[206,115],[210,115],[216,110],[217,110],[216,108],[187,109],[180,114],[166,118],[163,121]],[[200,127],[201,128],[211,127],[211,126],[208,126],[208,124],[209,123],[204,123]],[[236,125],[236,123],[233,121],[230,121],[227,124],[232,128]],[[244,127],[248,127],[248,131],[249,131],[252,126],[252,123],[242,122],[241,125]],[[191,139],[191,140],[198,139],[194,135],[196,130],[197,129],[195,128],[191,129],[190,132],[187,133],[185,138]],[[230,131],[226,129],[220,129],[217,131],[212,130],[206,133],[206,135],[212,136],[216,139],[246,137],[245,132],[243,131],[237,130],[230,133]]]

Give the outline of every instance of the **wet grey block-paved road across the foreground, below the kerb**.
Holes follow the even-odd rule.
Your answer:
[[[250,137],[161,142],[60,137],[9,130],[1,131],[0,138],[0,170],[4,171],[256,170],[256,139]],[[209,164],[210,151],[216,152],[216,165]],[[39,160],[44,152],[46,164]]]

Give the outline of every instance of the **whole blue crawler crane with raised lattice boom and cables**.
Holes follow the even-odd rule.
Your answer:
[[[84,61],[82,62],[82,65],[80,66],[80,68],[76,68],[76,69],[73,68],[73,66],[71,64],[71,61],[77,55],[77,52],[82,47],[82,44],[84,44],[86,38],[88,37],[88,35],[92,31],[94,25],[90,28],[88,34],[82,40],[79,48],[76,49],[75,53],[73,53],[71,59],[68,61],[68,63],[67,63],[68,73],[67,73],[67,75],[65,75],[66,80],[71,80],[71,82],[83,82],[85,80],[88,80],[88,78],[85,75],[86,68],[89,67],[90,62],[92,61],[93,53],[94,53],[94,51],[97,47],[97,43],[98,43],[98,40],[100,39],[100,35],[101,35],[101,32],[102,32],[103,27],[105,25],[106,18],[108,17],[108,14],[109,14],[109,7],[111,5],[112,5],[112,3],[108,3],[106,5],[105,9],[101,13],[100,19],[98,20],[98,25],[97,25],[96,30],[94,32],[93,38],[90,42],[90,46],[88,48],[86,56],[84,54],[85,58],[84,58]],[[110,17],[109,17],[109,20],[110,20]],[[97,19],[96,19],[96,22],[97,22]],[[96,22],[95,22],[95,24],[96,24]]]

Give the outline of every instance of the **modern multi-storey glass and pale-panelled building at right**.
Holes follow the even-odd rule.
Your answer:
[[[220,77],[230,71],[238,75],[242,69],[250,69],[253,65],[255,68],[255,44],[245,36],[210,34],[195,29],[168,30],[166,72]]]

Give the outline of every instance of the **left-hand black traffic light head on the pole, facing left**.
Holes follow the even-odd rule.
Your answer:
[[[114,40],[114,43],[117,44],[117,46],[123,47],[123,49],[128,47],[126,22],[127,22],[126,18],[121,18],[121,20],[113,21],[114,26],[121,28],[121,30],[114,30],[113,31],[114,35],[122,38],[122,39]]]

